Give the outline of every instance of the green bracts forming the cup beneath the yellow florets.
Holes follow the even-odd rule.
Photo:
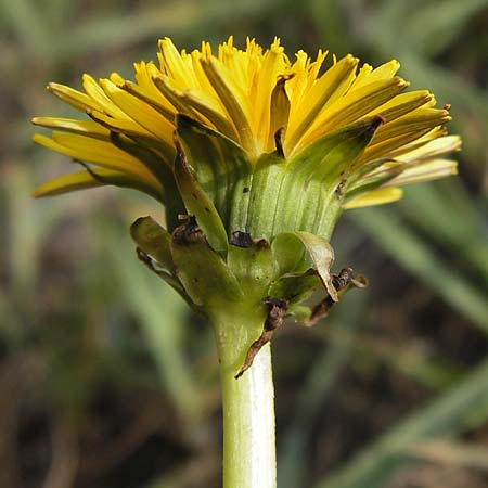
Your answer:
[[[150,266],[207,317],[253,310],[264,323],[270,300],[307,323],[299,304],[322,290],[338,300],[328,239],[346,197],[343,188],[383,119],[374,116],[317,140],[287,159],[277,150],[256,167],[233,141],[188,116],[177,118],[174,178],[183,209],[169,233],[150,217],[131,234]],[[350,277],[352,280],[354,277]],[[299,306],[299,307],[298,307]],[[249,331],[240,356],[262,333]]]

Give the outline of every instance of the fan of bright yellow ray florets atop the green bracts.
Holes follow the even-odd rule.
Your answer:
[[[389,202],[400,193],[387,185],[455,171],[446,156],[460,141],[445,136],[448,110],[436,108],[427,90],[404,91],[409,82],[397,76],[396,60],[373,68],[351,54],[337,60],[321,50],[314,57],[304,51],[288,57],[278,38],[269,49],[252,39],[239,49],[232,37],[217,50],[203,42],[200,50],[180,51],[169,38],[158,47],[158,65],[136,63],[134,80],[116,73],[100,80],[85,74],[82,91],[49,84],[53,94],[91,120],[36,117],[34,124],[55,130],[36,142],[104,171],[133,176],[159,194],[164,171],[156,166],[172,166],[177,115],[233,141],[253,168],[264,153],[278,150],[293,159],[324,136],[381,115],[383,124],[348,169],[359,175],[351,179],[355,192],[362,188],[358,178],[364,188],[382,181],[381,188],[355,193],[345,206]],[[141,147],[151,164],[127,146]],[[79,176],[69,188],[100,183],[93,181]]]

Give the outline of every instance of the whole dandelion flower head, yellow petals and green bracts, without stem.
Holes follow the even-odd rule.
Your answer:
[[[349,268],[331,272],[343,209],[455,172],[448,108],[426,90],[404,91],[397,61],[290,59],[278,39],[267,50],[229,38],[217,52],[206,42],[179,52],[166,38],[158,65],[134,68],[134,81],[84,75],[84,91],[49,84],[88,117],[36,117],[53,132],[35,141],[84,169],[35,194],[114,184],[159,201],[165,228],[150,217],[131,227],[139,257],[210,319],[232,381],[285,316],[310,325],[365,284]],[[319,290],[321,304],[300,305]]]

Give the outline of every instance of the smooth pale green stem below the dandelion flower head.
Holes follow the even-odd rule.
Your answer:
[[[223,403],[223,488],[275,488],[271,349],[267,344],[235,380],[253,342],[249,337],[257,330],[255,323],[262,330],[262,320],[251,320],[252,328],[236,322],[214,321]]]

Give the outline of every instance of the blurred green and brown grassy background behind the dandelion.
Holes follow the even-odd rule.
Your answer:
[[[337,269],[371,285],[275,335],[279,487],[487,487],[487,0],[1,0],[0,487],[220,486],[210,329],[127,231],[159,209],[114,189],[31,200],[72,163],[31,143],[29,118],[73,114],[50,80],[130,78],[158,37],[230,34],[396,57],[464,140],[459,178],[343,218]]]

